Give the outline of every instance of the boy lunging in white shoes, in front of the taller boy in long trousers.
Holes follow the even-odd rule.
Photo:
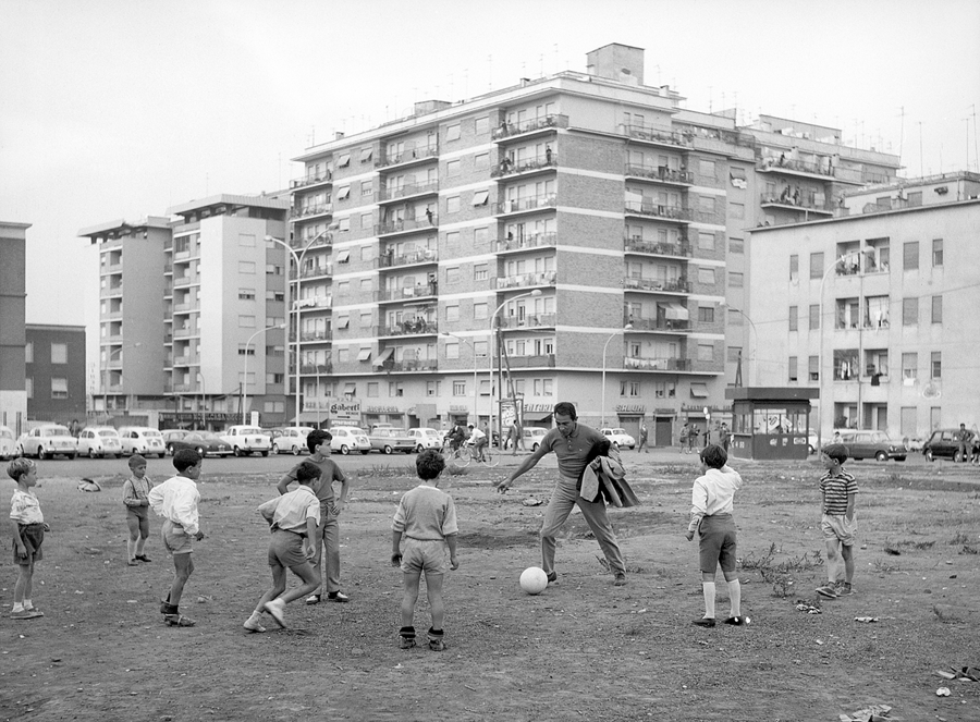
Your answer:
[[[262,595],[252,616],[245,620],[243,626],[249,632],[266,631],[261,624],[262,612],[269,612],[275,623],[285,628],[285,605],[320,586],[320,570],[309,563],[320,547],[320,536],[317,534],[320,500],[316,494],[320,469],[316,464],[303,462],[296,467],[296,480],[299,482],[298,489],[258,507],[272,531],[269,542],[272,588]],[[303,586],[283,593],[286,568],[303,580]]]

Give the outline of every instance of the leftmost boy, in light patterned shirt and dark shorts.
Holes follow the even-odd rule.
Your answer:
[[[30,591],[34,564],[44,559],[41,543],[45,541],[45,531],[48,531],[50,527],[45,524],[40,504],[30,490],[30,487],[37,486],[37,465],[29,458],[15,458],[7,467],[7,474],[17,485],[10,498],[14,564],[17,565],[19,571],[10,619],[33,620],[45,615],[30,601]]]

